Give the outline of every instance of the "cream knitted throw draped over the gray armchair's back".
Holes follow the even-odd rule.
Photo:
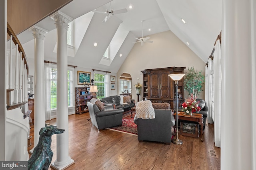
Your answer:
[[[155,119],[155,110],[150,100],[145,100],[137,103],[136,117],[142,119]]]

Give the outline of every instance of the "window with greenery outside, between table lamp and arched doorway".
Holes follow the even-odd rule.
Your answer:
[[[94,73],[94,85],[98,88],[97,98],[102,99],[106,96],[106,75]]]

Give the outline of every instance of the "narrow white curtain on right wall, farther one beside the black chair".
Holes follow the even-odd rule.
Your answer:
[[[213,82],[212,82],[212,76],[213,76],[213,72],[212,72],[212,58],[209,58],[208,59],[208,106],[209,106],[209,109],[208,109],[208,123],[213,123],[213,119],[212,119],[212,115],[213,115],[213,112],[212,112],[212,106],[213,106],[213,101],[212,101],[212,90],[213,90]]]

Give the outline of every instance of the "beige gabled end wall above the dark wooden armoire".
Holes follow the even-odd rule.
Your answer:
[[[134,84],[140,82],[142,84],[141,70],[149,68],[164,68],[164,67],[191,67],[198,71],[202,70],[204,75],[205,64],[187,45],[185,45],[174,33],[165,31],[150,35],[150,41],[153,43],[136,43],[126,60],[117,72],[117,77],[124,72],[132,76],[132,98],[137,101],[136,90]],[[209,51],[209,55],[212,51]],[[185,70],[186,72],[186,70]],[[119,88],[119,84],[116,84]],[[118,90],[119,91],[119,90]],[[185,93],[186,95],[187,93]],[[186,95],[187,96],[187,95]],[[198,95],[198,98],[204,99],[204,91]],[[139,100],[142,100],[140,95]]]

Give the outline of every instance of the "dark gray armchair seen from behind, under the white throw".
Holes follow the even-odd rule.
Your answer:
[[[155,119],[137,119],[134,116],[134,123],[138,127],[138,141],[163,142],[170,145],[172,138],[172,127],[175,124],[170,109],[154,109]]]

